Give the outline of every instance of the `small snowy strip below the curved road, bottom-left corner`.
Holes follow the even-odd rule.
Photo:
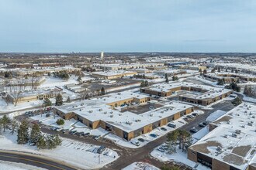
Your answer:
[[[38,168],[31,165],[26,165],[16,162],[3,162],[0,161],[0,169],[2,170],[45,170],[45,168]]]

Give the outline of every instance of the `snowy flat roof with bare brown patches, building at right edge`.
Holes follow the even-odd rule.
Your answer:
[[[255,117],[255,104],[240,104],[214,121],[217,127],[192,145],[192,150],[246,169],[256,159]]]

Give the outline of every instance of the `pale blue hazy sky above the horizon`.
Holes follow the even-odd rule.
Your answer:
[[[256,52],[255,0],[0,0],[0,52]]]

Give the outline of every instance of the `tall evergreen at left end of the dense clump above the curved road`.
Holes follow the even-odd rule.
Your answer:
[[[29,141],[29,123],[27,121],[22,121],[18,129],[17,143],[26,144],[28,141]]]

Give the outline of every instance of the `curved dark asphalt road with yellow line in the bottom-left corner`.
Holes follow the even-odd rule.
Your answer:
[[[50,161],[46,158],[37,157],[35,155],[21,154],[19,152],[0,151],[0,160],[6,162],[17,162],[26,165],[33,165],[40,168],[50,170],[75,170],[78,168],[71,168],[68,165]]]

